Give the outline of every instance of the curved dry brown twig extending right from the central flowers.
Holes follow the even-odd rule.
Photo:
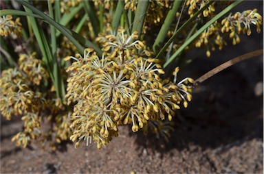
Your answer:
[[[205,73],[204,75],[202,75],[201,77],[196,79],[194,84],[195,84],[195,86],[197,86],[198,84],[201,84],[201,82],[205,81],[206,79],[209,79],[210,77],[219,73],[220,71],[227,69],[229,66],[232,66],[233,64],[236,64],[236,63],[241,62],[243,60],[247,60],[249,58],[253,58],[253,57],[255,57],[257,55],[261,55],[261,54],[263,54],[263,49],[259,49],[257,51],[252,51],[250,53],[245,53],[243,55],[239,55],[238,57],[236,57],[232,60],[228,60],[228,62],[225,62],[225,63],[217,66],[216,68],[212,69],[211,71],[208,71],[208,73]]]

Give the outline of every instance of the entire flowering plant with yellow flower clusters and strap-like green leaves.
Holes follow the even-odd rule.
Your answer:
[[[1,3],[0,110],[24,121],[12,140],[86,140],[100,149],[124,125],[168,140],[175,111],[192,99],[194,80],[177,79],[189,62],[183,54],[197,47],[209,57],[228,38],[236,45],[239,34],[249,36],[252,25],[261,32],[256,9],[225,16],[241,2]]]

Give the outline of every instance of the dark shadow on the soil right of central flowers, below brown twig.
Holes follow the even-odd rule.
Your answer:
[[[212,62],[202,59],[192,66],[204,64],[213,67]],[[255,69],[263,71],[262,66]],[[175,132],[171,132],[169,142],[155,135],[137,133],[138,149],[149,147],[166,153],[175,148],[188,149],[190,144],[215,149],[236,145],[245,139],[263,138],[263,95],[256,97],[245,77],[231,67],[197,86],[192,102],[188,108],[180,110],[174,122]]]

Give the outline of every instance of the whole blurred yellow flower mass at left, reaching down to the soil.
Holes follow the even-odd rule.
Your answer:
[[[49,87],[50,77],[41,60],[36,59],[36,53],[20,54],[18,63],[19,69],[5,70],[0,78],[1,114],[8,120],[11,116],[21,116],[24,122],[23,132],[12,141],[26,147],[32,140],[45,142],[52,140],[52,136],[56,142],[66,140],[71,130],[67,114],[63,112],[63,101],[56,99]],[[52,134],[41,132],[42,118],[48,115],[53,123]]]

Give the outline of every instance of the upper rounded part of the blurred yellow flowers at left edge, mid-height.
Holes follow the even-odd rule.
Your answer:
[[[34,59],[33,62],[28,60],[28,64],[25,62],[25,56],[34,58],[34,55],[34,53],[32,55],[20,55],[19,62],[21,62],[22,72],[17,69],[8,69],[2,73],[0,110],[8,120],[11,119],[12,115],[21,115],[27,112],[37,113],[42,108],[44,99],[41,92],[32,91],[32,86],[40,84],[41,79],[47,78],[47,72],[38,68],[41,64],[40,60]],[[22,73],[28,75],[25,76]]]

